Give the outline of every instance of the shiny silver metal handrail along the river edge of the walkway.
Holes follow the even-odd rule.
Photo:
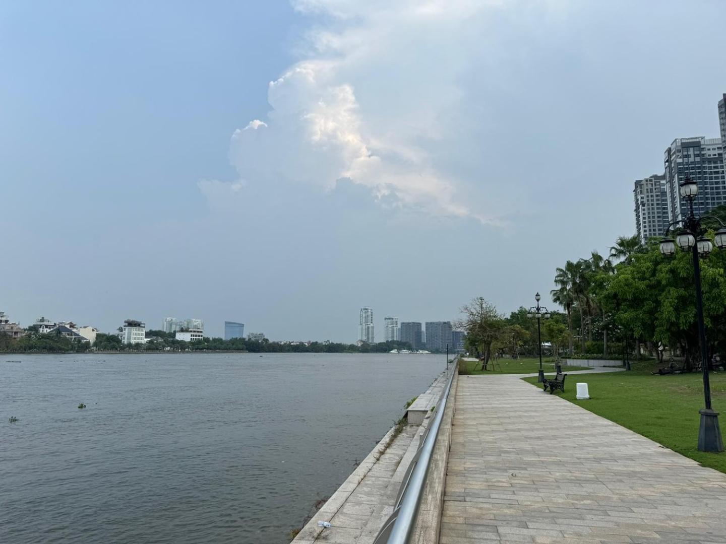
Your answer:
[[[451,374],[449,382],[446,383],[446,387],[441,392],[441,397],[439,397],[439,403],[436,404],[433,421],[426,428],[421,445],[418,447],[415,456],[413,456],[404,480],[401,482],[401,489],[396,499],[396,506],[393,508],[393,514],[383,524],[373,544],[407,544],[413,535],[418,507],[423,497],[423,487],[428,475],[428,467],[431,465],[431,454],[433,453],[433,447],[436,445],[436,439],[439,437],[441,420],[444,419],[444,411],[446,411],[446,401],[449,400],[449,392],[456,374],[455,363],[452,364],[449,372]]]

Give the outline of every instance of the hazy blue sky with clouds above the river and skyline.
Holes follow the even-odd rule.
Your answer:
[[[718,136],[726,3],[0,2],[0,310],[353,342],[534,304]],[[549,302],[549,297],[543,297]],[[553,306],[553,305],[552,305]]]

